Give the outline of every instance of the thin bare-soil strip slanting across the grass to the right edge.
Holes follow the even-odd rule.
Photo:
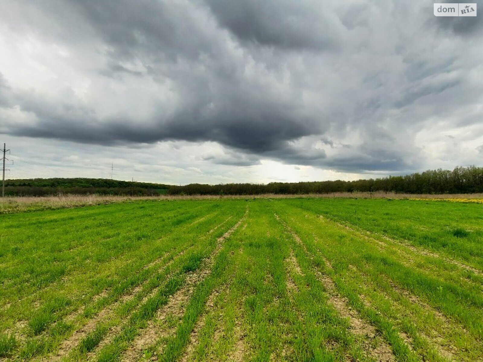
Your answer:
[[[474,268],[474,267],[472,267],[470,265],[466,265],[466,264],[461,263],[461,262],[459,262],[457,260],[454,260],[454,259],[448,259],[448,258],[446,258],[446,257],[444,257],[444,256],[442,256],[442,255],[440,255],[440,254],[438,254],[436,252],[428,251],[425,248],[416,247],[416,246],[412,245],[411,242],[408,241],[408,240],[395,239],[395,238],[392,238],[392,237],[388,237],[387,235],[384,235],[384,234],[370,232],[368,230],[361,229],[361,228],[359,228],[359,227],[357,227],[356,225],[353,225],[353,224],[341,223],[341,222],[335,221],[334,219],[327,218],[324,215],[319,215],[319,217],[321,219],[326,220],[329,223],[336,224],[336,225],[338,225],[340,227],[343,227],[344,229],[347,229],[349,231],[352,231],[352,232],[360,235],[361,237],[364,237],[365,239],[370,239],[371,241],[374,241],[377,244],[379,244],[381,246],[384,246],[384,248],[387,248],[387,247],[393,247],[394,248],[395,246],[397,246],[397,247],[399,247],[398,251],[400,251],[403,254],[405,254],[408,258],[410,258],[410,260],[411,260],[411,256],[409,254],[407,254],[407,252],[405,252],[404,250],[402,250],[400,248],[407,248],[407,249],[413,251],[416,254],[425,255],[425,256],[429,256],[429,257],[435,258],[435,259],[443,260],[446,263],[456,265],[456,266],[458,266],[461,269],[465,269],[467,271],[473,272],[476,275],[483,276],[483,272],[482,271],[480,271],[480,270],[478,270],[478,269],[476,269],[476,268]],[[389,245],[387,243],[384,243],[383,241],[377,239],[374,236],[381,237],[384,240],[387,240],[387,241],[391,242],[393,245]]]

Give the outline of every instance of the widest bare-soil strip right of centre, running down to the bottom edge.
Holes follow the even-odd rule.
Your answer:
[[[277,218],[277,220],[280,221],[280,223],[284,225],[285,229],[292,235],[297,244],[300,245],[302,249],[306,252],[307,256],[313,259],[312,254],[310,253],[310,251],[307,250],[307,247],[303,243],[302,239],[297,235],[297,233],[278,215],[275,215],[275,217]],[[332,269],[332,265],[330,264],[330,262],[323,256],[322,258],[327,267],[329,269]],[[364,338],[363,347],[365,351],[371,357],[376,359],[376,361],[396,361],[396,357],[394,356],[391,347],[381,338],[380,335],[378,335],[375,327],[369,324],[367,321],[363,320],[359,316],[359,313],[348,305],[347,299],[341,297],[341,295],[337,292],[334,281],[327,275],[322,274],[319,270],[315,271],[315,275],[322,282],[328,293],[328,303],[337,309],[341,317],[349,320],[349,329],[353,334],[360,335]],[[376,347],[374,347],[375,344],[377,344]]]

